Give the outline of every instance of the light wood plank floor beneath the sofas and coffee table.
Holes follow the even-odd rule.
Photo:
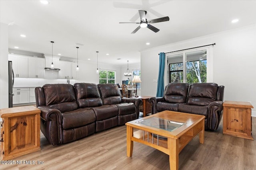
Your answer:
[[[256,117],[252,117],[256,140]],[[169,156],[134,142],[133,155],[126,156],[126,126],[96,133],[66,145],[52,146],[41,133],[41,150],[16,160],[44,164],[3,165],[1,170],[168,170]],[[256,141],[205,132],[205,143],[196,136],[179,154],[180,170],[256,170]]]

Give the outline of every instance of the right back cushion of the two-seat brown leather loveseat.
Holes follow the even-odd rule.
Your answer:
[[[210,102],[216,100],[218,84],[216,83],[192,83],[188,92],[188,102],[190,105],[208,106]]]

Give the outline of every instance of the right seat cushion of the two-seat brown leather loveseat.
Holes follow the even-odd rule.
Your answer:
[[[184,112],[184,113],[193,113],[193,114],[198,114],[198,115],[204,115],[207,118],[208,106],[179,104],[178,111]]]

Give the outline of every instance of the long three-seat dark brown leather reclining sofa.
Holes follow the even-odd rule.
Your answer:
[[[35,89],[40,129],[52,145],[81,139],[138,119],[138,98],[121,98],[116,84],[45,84]]]

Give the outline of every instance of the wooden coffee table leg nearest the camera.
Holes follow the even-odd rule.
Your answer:
[[[168,138],[170,170],[179,169],[179,140]]]

